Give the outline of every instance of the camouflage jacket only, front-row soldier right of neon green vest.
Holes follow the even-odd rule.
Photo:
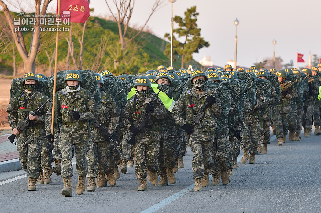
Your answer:
[[[183,126],[186,123],[192,125],[193,114],[197,114],[205,103],[207,96],[211,95],[214,90],[205,88],[201,94],[198,94],[194,88],[182,93],[180,99],[176,102],[173,109],[173,117],[179,126]],[[191,103],[189,103],[189,97],[191,97]],[[205,109],[204,118],[201,120],[201,128],[198,125],[194,127],[194,132],[215,132],[217,126],[217,116],[221,114],[223,106],[218,96],[215,96],[215,103]],[[194,113],[193,113],[194,110]],[[184,114],[181,114],[184,112]],[[187,119],[184,120],[183,117]],[[193,133],[194,134],[194,133]]]

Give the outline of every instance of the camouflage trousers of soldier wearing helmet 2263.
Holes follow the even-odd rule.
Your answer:
[[[135,143],[133,147],[133,153],[135,158],[135,173],[137,179],[146,178],[147,169],[151,172],[156,172],[159,169],[157,163],[159,147],[160,145],[158,141],[152,141],[149,144],[143,144],[140,142]]]

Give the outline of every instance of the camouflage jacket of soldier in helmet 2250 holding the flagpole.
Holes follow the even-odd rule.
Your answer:
[[[61,130],[68,132],[79,132],[86,137],[83,140],[89,140],[91,137],[89,121],[95,120],[99,113],[99,107],[90,91],[80,87],[79,91],[68,92],[67,88],[56,92],[55,114],[61,121]],[[51,115],[52,104],[46,117],[46,132],[51,134]],[[73,112],[80,114],[79,120],[74,120]],[[48,118],[48,119],[47,119]]]

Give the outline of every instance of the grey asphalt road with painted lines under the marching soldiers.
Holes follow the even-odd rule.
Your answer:
[[[230,184],[209,185],[202,192],[193,192],[193,154],[189,149],[183,157],[185,168],[176,173],[176,184],[161,187],[147,182],[144,192],[136,191],[139,181],[135,179],[134,168],[121,174],[116,186],[77,195],[78,175],[74,165],[72,197],[61,195],[62,178],[55,173],[51,176],[52,184],[36,184],[37,191],[28,192],[27,178],[18,179],[25,175],[23,170],[2,172],[0,211],[321,212],[320,145],[321,136],[312,135],[301,141],[287,139],[283,146],[277,146],[272,135],[268,154],[256,155],[255,164],[239,164],[239,168],[233,170],[235,176],[231,177]],[[18,180],[12,181],[14,177]]]

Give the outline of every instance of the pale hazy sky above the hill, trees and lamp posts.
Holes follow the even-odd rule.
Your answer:
[[[136,0],[132,25],[143,25],[153,3],[154,0]],[[224,66],[229,59],[234,60],[236,18],[239,20],[237,62],[241,67],[273,57],[273,39],[277,42],[276,57],[281,56],[285,63],[292,59],[296,66],[297,51],[304,54],[306,62],[309,51],[311,55],[321,55],[320,0],[177,0],[174,16],[184,17],[186,9],[195,5],[201,36],[210,47],[195,53],[194,59],[201,60],[203,55],[209,55],[219,66]],[[92,15],[110,14],[105,0],[91,0],[91,7],[95,9]],[[163,38],[166,32],[170,33],[170,17],[171,4],[165,0],[147,25]],[[299,67],[304,65],[299,63]]]

